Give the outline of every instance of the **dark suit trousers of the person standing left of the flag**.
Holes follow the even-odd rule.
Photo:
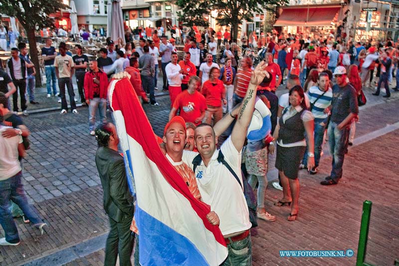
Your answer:
[[[133,216],[125,217],[117,223],[109,217],[111,230],[105,244],[105,266],[114,266],[119,254],[120,266],[131,266],[130,257],[133,252],[134,234],[130,231]]]

